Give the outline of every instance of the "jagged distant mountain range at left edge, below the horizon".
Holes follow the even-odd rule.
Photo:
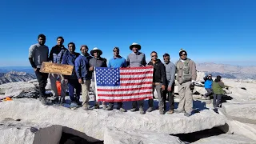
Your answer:
[[[8,73],[0,73],[0,85],[7,82],[27,82],[35,79],[35,74],[26,72],[10,71]]]

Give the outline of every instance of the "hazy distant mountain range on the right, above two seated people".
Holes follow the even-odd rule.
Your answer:
[[[256,66],[232,66],[205,62],[199,63],[197,70],[206,72],[206,74],[213,74],[214,77],[221,75],[222,78],[256,80]]]

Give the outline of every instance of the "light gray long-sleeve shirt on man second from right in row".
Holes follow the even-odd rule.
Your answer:
[[[172,86],[174,83],[176,66],[173,62],[169,62],[168,64],[163,63],[166,66],[166,78],[168,82],[168,86]]]

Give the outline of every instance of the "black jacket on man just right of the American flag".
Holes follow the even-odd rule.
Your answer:
[[[161,62],[160,59],[157,59],[155,63],[149,62],[149,66],[154,66],[154,72],[153,72],[153,82],[160,82],[164,86],[167,86],[166,82],[166,68]]]

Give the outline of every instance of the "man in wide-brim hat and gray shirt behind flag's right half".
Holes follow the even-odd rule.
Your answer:
[[[133,43],[130,45],[130,50],[133,52],[128,55],[126,58],[126,64],[128,67],[142,67],[146,66],[146,56],[142,52],[139,52],[139,50],[142,49],[142,46],[138,43]],[[144,100],[141,101],[134,101],[132,102],[132,109],[130,111],[134,112],[139,110],[140,114],[145,114],[143,110]],[[139,106],[139,109],[138,109]]]

